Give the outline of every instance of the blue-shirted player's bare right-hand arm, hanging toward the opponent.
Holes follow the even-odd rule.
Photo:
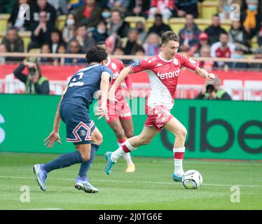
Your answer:
[[[109,92],[109,83],[110,83],[110,74],[108,72],[102,73],[101,83],[100,83],[100,90],[101,90],[101,105],[96,108],[97,113],[96,116],[99,116],[98,119],[104,116],[106,112],[106,100],[107,94]]]

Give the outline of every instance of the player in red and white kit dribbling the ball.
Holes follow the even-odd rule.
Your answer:
[[[194,71],[198,76],[214,80],[214,74],[200,69],[193,59],[177,53],[179,48],[179,36],[173,31],[165,31],[162,35],[161,52],[159,55],[142,59],[127,66],[120,72],[115,83],[109,90],[109,98],[113,100],[116,87],[129,73],[149,71],[151,94],[146,102],[146,123],[141,134],[127,139],[125,144],[116,151],[106,152],[106,174],[111,173],[111,167],[120,156],[134,151],[138,146],[149,144],[153,137],[163,128],[172,132],[174,140],[174,181],[181,181],[183,170],[183,158],[185,153],[186,127],[170,113],[174,105],[174,95],[177,89],[181,68],[185,66]],[[181,73],[183,75],[183,73]]]

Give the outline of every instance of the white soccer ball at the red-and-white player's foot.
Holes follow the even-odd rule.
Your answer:
[[[182,176],[182,183],[186,189],[200,188],[202,181],[202,175],[194,169],[188,170]]]

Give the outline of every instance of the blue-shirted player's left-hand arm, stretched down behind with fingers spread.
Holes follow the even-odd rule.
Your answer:
[[[60,123],[61,123],[61,117],[59,113],[60,109],[60,104],[62,102],[63,96],[60,99],[60,102],[57,106],[57,111],[55,113],[55,120],[54,120],[54,125],[53,125],[53,131],[49,134],[49,136],[44,140],[46,141],[45,146],[48,148],[52,148],[55,144],[55,141],[57,141],[59,144],[62,144],[60,141],[60,135],[59,135],[59,128],[60,128]]]

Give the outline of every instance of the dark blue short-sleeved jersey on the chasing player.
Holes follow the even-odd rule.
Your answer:
[[[100,90],[101,76],[104,71],[110,74],[112,80],[113,72],[102,64],[89,65],[74,73],[67,85],[61,106],[74,104],[89,111],[95,92]]]

